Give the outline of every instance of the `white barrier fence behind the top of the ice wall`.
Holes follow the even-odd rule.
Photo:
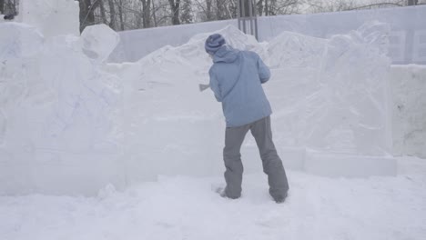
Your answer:
[[[426,5],[315,15],[259,17],[259,41],[269,41],[283,31],[327,38],[346,34],[360,25],[379,21],[391,25],[389,53],[392,64],[426,65]],[[134,62],[164,45],[182,45],[199,33],[216,31],[237,20],[166,26],[120,33],[121,43],[111,62]],[[164,35],[164,31],[167,35]]]

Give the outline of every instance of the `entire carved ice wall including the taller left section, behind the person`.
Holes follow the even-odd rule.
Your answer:
[[[0,105],[2,192],[90,194],[106,183],[120,188],[157,175],[221,175],[221,107],[211,92],[198,92],[211,65],[204,51],[208,34],[161,48],[134,64],[105,65],[117,44],[105,26],[86,28],[81,38],[43,38],[26,25],[1,26],[2,35],[15,27],[41,37],[30,45],[15,35],[15,42],[0,45],[9,49],[13,43],[17,49],[15,58],[5,51],[0,75],[6,96]],[[385,157],[390,140],[386,25],[371,23],[331,39],[283,33],[269,44],[233,26],[218,32],[230,45],[256,51],[271,65],[273,77],[265,90],[286,165],[323,175],[395,174]],[[108,40],[99,44],[100,39]],[[33,54],[16,54],[25,47]],[[307,164],[323,159],[324,152],[334,161],[351,161],[334,168]],[[243,145],[247,172],[260,171],[258,155],[248,137]],[[375,155],[374,170],[357,162],[369,159],[365,155]]]

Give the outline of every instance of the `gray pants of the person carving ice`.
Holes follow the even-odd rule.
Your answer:
[[[229,198],[238,198],[241,195],[243,165],[241,163],[240,149],[247,132],[256,139],[262,159],[263,172],[268,175],[269,194],[275,199],[285,198],[289,191],[286,172],[281,159],[272,142],[270,130],[270,117],[267,116],[249,125],[227,127],[225,132],[225,148],[223,159],[227,170],[225,181],[227,187],[225,194]]]

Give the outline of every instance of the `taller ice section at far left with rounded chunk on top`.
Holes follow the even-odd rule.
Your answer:
[[[118,36],[93,28],[46,38],[33,26],[0,25],[0,193],[123,184],[121,82],[99,68]]]

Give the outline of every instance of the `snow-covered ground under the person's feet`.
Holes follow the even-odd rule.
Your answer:
[[[160,176],[96,197],[0,196],[7,240],[421,240],[426,163],[401,158],[397,177],[329,178],[289,171],[288,200],[275,204],[265,175],[245,175],[238,200],[219,197],[221,177]]]

